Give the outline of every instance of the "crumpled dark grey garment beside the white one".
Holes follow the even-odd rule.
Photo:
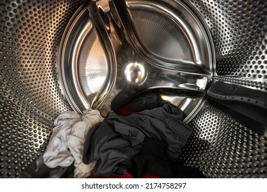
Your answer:
[[[84,163],[97,160],[92,176],[124,174],[131,156],[141,151],[145,136],[164,143],[168,159],[175,160],[192,133],[182,120],[183,112],[167,103],[126,117],[110,112],[94,134],[88,133]]]

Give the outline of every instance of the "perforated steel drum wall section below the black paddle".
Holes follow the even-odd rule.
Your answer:
[[[181,160],[209,178],[266,178],[267,138],[208,102],[190,122],[194,128]]]

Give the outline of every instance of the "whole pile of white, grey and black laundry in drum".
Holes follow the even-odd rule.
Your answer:
[[[75,178],[173,178],[182,148],[192,133],[183,112],[159,107],[119,115],[88,109],[62,112],[43,155],[47,167],[74,163]],[[194,171],[193,171],[194,172]],[[191,176],[187,176],[191,177]],[[193,175],[194,177],[194,175]]]

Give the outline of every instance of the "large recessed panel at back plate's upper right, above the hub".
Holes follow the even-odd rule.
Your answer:
[[[132,46],[150,64],[212,74],[210,37],[182,1],[114,1]]]

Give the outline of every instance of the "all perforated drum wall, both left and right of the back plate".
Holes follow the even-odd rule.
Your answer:
[[[267,91],[267,1],[192,0],[216,48],[214,80]],[[43,152],[53,119],[71,110],[56,71],[60,38],[81,1],[0,2],[0,177]],[[181,160],[211,178],[267,178],[267,139],[207,101]]]

